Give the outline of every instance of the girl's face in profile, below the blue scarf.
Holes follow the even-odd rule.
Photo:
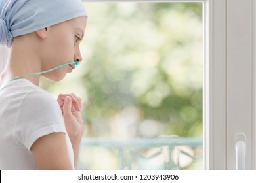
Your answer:
[[[51,69],[63,63],[74,60],[82,61],[79,44],[85,33],[87,18],[81,16],[60,24],[47,27],[47,38],[44,39],[45,44],[43,50],[43,60],[41,63],[42,71]],[[65,65],[45,73],[43,76],[50,80],[62,80],[66,73],[71,73],[75,68],[74,65]]]

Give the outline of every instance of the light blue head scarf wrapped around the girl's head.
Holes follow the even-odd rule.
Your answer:
[[[0,0],[0,44],[79,16],[87,16],[81,0]]]

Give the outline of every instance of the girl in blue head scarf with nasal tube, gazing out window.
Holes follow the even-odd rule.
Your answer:
[[[87,13],[80,0],[1,0],[0,169],[74,169],[83,135],[81,99],[57,101],[39,78],[62,80],[82,61]],[[44,72],[45,71],[45,72]]]

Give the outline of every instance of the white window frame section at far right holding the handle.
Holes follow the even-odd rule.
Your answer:
[[[255,169],[255,11],[253,0],[227,0],[227,169],[236,169],[235,145],[244,134],[245,169]]]

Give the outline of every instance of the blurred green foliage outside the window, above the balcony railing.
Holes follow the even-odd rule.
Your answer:
[[[71,79],[42,86],[50,92],[80,92],[86,135],[202,136],[202,3],[85,7],[89,20],[81,68]]]

